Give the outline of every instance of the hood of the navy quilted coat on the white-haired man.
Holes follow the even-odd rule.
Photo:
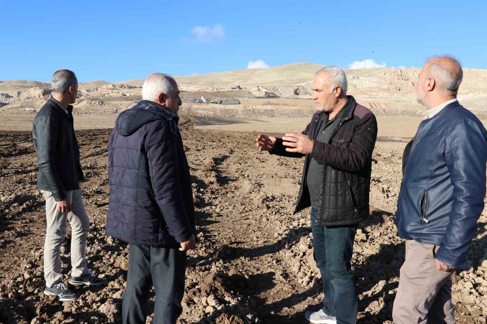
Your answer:
[[[122,111],[115,121],[117,133],[122,136],[129,136],[140,127],[156,120],[174,120],[177,124],[177,114],[170,112],[164,106],[149,100],[142,100],[134,107]]]

